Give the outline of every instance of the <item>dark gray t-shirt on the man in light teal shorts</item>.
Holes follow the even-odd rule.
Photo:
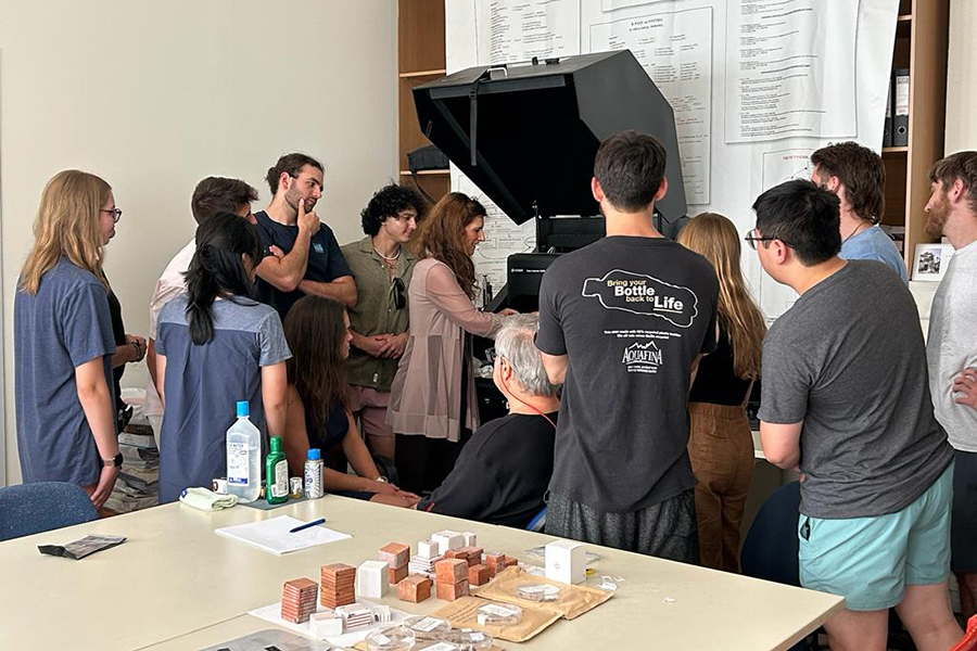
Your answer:
[[[762,373],[760,420],[803,421],[805,515],[900,511],[952,460],[916,304],[880,263],[851,260],[798,298],[766,333]]]

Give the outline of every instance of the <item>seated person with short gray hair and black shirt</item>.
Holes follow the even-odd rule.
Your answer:
[[[537,327],[535,315],[505,320],[495,336],[492,380],[509,414],[479,427],[419,511],[522,528],[543,509],[560,400],[533,343]]]

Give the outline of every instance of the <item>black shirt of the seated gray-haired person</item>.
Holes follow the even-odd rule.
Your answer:
[[[556,413],[547,418],[557,422]],[[418,511],[522,528],[543,510],[555,430],[542,416],[510,413],[472,435],[455,468]]]

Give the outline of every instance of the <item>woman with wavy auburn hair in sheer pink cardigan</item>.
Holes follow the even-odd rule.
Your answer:
[[[404,490],[433,490],[479,426],[471,336],[493,337],[504,316],[475,308],[471,256],[485,239],[485,208],[452,192],[418,228],[420,261],[407,290],[410,330],[391,386],[386,422],[396,433]]]

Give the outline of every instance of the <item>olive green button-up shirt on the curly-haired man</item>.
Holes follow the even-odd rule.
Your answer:
[[[350,327],[357,334],[399,334],[407,331],[407,288],[417,258],[401,247],[396,277],[404,281],[404,307],[396,308],[394,283],[383,264],[383,258],[373,251],[372,239],[367,235],[358,242],[350,242],[342,247],[346,264],[356,279],[356,307],[348,310]],[[379,359],[356,346],[350,346],[347,362],[348,382],[354,386],[368,386],[380,392],[389,392],[397,373],[398,359]]]

